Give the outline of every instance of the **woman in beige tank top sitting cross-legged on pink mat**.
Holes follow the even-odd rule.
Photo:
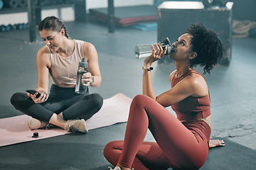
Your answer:
[[[100,86],[97,51],[90,42],[70,39],[63,21],[55,16],[41,21],[38,30],[46,44],[36,56],[36,91],[41,96],[16,93],[11,97],[11,104],[32,117],[28,121],[32,130],[56,125],[68,132],[86,133],[85,120],[100,111],[103,99],[99,94],[76,94],[75,84],[78,64],[85,58],[88,72],[82,76],[83,86]],[[52,85],[48,95],[49,74]]]

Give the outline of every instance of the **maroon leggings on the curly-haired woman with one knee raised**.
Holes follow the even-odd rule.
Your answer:
[[[143,142],[148,128],[156,142]],[[209,140],[205,121],[181,123],[154,99],[138,95],[131,104],[124,141],[108,143],[104,155],[114,166],[135,170],[200,169]]]

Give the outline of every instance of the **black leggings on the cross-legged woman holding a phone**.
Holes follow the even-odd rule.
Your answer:
[[[11,96],[11,104],[22,113],[38,120],[50,121],[53,113],[63,112],[64,120],[89,119],[100,111],[103,98],[100,94],[75,94],[75,88],[63,88],[52,85],[48,100],[34,103],[25,93]]]

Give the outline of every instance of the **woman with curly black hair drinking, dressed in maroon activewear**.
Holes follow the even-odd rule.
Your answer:
[[[143,95],[132,101],[124,141],[106,145],[104,155],[117,169],[200,169],[206,162],[210,140],[210,94],[203,75],[223,55],[223,45],[213,30],[192,24],[176,42],[169,57],[176,70],[169,76],[171,89],[156,96],[151,64],[166,54],[155,44],[144,60]],[[177,118],[166,107],[171,106]],[[144,142],[147,129],[156,142]]]

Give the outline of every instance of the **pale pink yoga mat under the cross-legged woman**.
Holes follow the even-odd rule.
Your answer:
[[[92,130],[114,125],[115,123],[127,122],[131,102],[132,99],[124,96],[124,94],[116,94],[111,98],[105,99],[100,111],[86,121],[88,129]],[[0,119],[0,147],[68,133],[61,128],[30,130],[27,125],[29,118],[31,117],[28,115],[18,115]],[[38,132],[38,138],[32,137],[34,132]]]

